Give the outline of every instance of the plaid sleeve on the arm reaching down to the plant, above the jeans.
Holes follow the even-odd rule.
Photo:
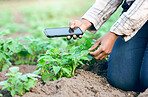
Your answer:
[[[148,0],[135,0],[127,12],[111,27],[110,31],[124,36],[124,40],[131,39],[148,20]]]

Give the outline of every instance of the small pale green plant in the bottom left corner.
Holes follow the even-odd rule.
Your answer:
[[[10,73],[6,73],[6,76],[9,77],[8,80],[0,82],[0,85],[3,86],[2,90],[7,89],[11,92],[11,95],[20,95],[29,91],[31,87],[34,87],[35,83],[38,81],[37,77],[40,76],[36,74],[24,74],[22,75],[19,71],[19,67],[9,68]]]

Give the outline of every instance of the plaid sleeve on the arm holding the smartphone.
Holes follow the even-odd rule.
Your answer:
[[[97,31],[104,22],[116,11],[123,0],[96,0],[94,5],[82,16],[90,21]]]

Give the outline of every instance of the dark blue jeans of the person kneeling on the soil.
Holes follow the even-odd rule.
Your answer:
[[[129,41],[116,40],[108,61],[107,80],[122,90],[148,88],[148,22]]]

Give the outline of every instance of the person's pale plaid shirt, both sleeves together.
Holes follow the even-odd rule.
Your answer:
[[[116,11],[123,0],[96,0],[95,4],[82,18],[90,21],[96,32],[102,24]],[[129,0],[130,1],[130,0]],[[124,12],[110,31],[124,36],[124,40],[131,39],[148,20],[148,0],[135,0],[127,12]]]

